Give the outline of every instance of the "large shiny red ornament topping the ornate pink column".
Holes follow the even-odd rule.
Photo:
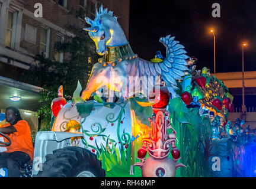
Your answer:
[[[153,92],[149,94],[149,99],[153,99],[155,102],[155,105],[152,106],[153,108],[164,109],[169,103],[169,90],[166,86],[160,86],[160,92],[155,92],[155,90],[153,90]]]

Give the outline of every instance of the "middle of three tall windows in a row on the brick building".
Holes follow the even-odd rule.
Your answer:
[[[46,58],[49,57],[49,46],[50,46],[50,29],[41,28],[40,31],[40,54],[44,54]]]

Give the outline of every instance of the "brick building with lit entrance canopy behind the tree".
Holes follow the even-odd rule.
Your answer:
[[[34,58],[37,54],[60,63],[65,60],[66,54],[58,53],[54,44],[74,37],[68,24],[84,28],[87,25],[84,17],[94,19],[95,10],[101,5],[119,18],[128,38],[129,0],[0,0],[2,112],[7,106],[16,106],[36,119],[41,88],[22,83],[21,74],[37,63]],[[12,96],[21,99],[13,102],[9,99]]]

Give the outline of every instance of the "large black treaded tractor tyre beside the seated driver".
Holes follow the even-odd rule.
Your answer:
[[[43,170],[34,177],[105,177],[95,154],[87,149],[68,146],[46,155]]]

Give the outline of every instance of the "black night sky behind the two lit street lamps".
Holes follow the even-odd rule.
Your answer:
[[[220,4],[220,18],[212,17],[212,4]],[[139,57],[150,60],[156,51],[165,56],[159,38],[168,34],[183,44],[188,56],[196,56],[197,70],[213,73],[213,35],[216,35],[216,72],[242,71],[242,42],[245,71],[256,71],[256,1],[143,1],[130,0],[129,41]]]

